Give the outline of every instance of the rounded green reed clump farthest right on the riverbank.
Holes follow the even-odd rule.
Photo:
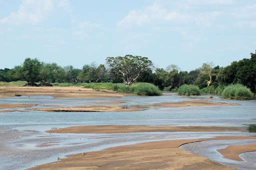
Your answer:
[[[222,98],[252,99],[253,93],[244,85],[229,84],[222,92]]]

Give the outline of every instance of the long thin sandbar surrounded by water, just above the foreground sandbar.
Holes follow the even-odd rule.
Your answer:
[[[136,125],[83,125],[53,128],[48,133],[130,133],[156,131],[245,131],[241,127],[228,126],[136,126]]]

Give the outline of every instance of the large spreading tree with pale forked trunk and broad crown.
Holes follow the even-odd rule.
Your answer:
[[[141,72],[153,68],[152,61],[137,55],[107,57],[106,65],[112,73],[120,75],[125,85],[131,85]]]

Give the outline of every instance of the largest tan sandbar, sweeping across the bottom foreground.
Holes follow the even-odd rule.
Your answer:
[[[29,169],[236,169],[187,152],[179,146],[203,140],[245,138],[256,137],[218,136],[116,146],[100,151],[67,155],[67,158]]]

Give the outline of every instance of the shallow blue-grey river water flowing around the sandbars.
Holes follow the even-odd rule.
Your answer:
[[[167,92],[165,93],[168,94]],[[0,103],[35,103],[38,105],[29,108],[37,108],[43,105],[95,105],[99,103],[91,102],[122,100],[125,102],[120,104],[129,106],[197,100],[209,96],[205,94],[196,98],[185,98],[178,95],[129,95],[115,98],[68,99],[56,99],[51,96],[20,96],[0,98]],[[96,124],[180,126],[246,126],[248,124],[256,124],[256,100],[223,100],[218,95],[213,95],[212,99],[207,100],[233,102],[239,105],[146,108],[140,111],[117,112],[47,112],[33,110],[29,112],[0,112],[0,169],[25,169],[42,163],[57,161],[57,157],[64,158],[67,154],[95,151],[112,146],[146,141],[206,138],[220,135],[256,136],[255,133],[249,132],[134,132],[114,134],[50,134],[44,132],[53,127]],[[25,109],[15,108],[15,110]],[[107,138],[109,136],[114,137]],[[240,154],[240,157],[244,159],[243,162],[222,158],[222,155],[216,149],[226,147],[228,142],[237,145],[256,143],[256,140],[211,140],[184,144],[181,148],[238,169],[255,169],[255,152]]]

